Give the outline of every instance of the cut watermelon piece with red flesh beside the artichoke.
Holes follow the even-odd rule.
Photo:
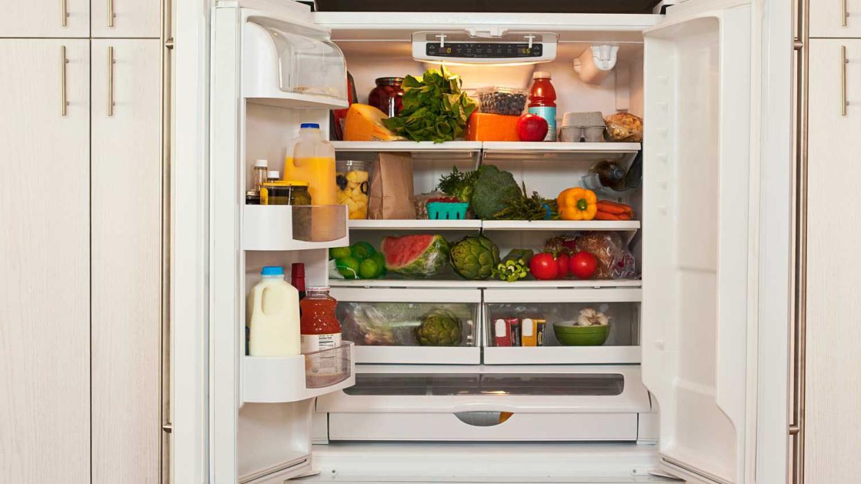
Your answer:
[[[387,236],[381,251],[386,268],[408,278],[435,276],[449,263],[449,242],[440,235]]]

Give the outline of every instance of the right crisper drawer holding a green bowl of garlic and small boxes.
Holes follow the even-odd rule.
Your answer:
[[[639,288],[488,289],[483,362],[640,363],[640,301]]]

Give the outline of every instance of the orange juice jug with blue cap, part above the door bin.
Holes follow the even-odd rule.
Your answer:
[[[323,138],[317,123],[302,123],[284,161],[284,180],[308,182],[313,205],[335,205],[335,147]]]

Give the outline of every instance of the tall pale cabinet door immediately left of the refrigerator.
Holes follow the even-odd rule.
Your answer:
[[[158,481],[159,49],[157,39],[92,41],[94,483]]]

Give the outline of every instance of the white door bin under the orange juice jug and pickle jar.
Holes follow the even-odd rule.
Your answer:
[[[347,205],[245,205],[244,250],[307,250],[350,245]]]

